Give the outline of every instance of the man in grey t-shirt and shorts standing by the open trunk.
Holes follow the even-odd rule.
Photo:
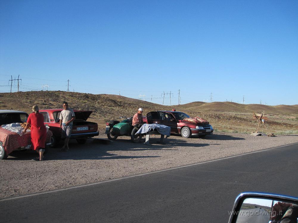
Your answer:
[[[72,134],[72,121],[75,120],[74,110],[68,107],[67,102],[63,102],[63,110],[60,113],[60,130],[61,138],[65,138],[64,145],[60,149],[61,151],[67,152],[69,150],[68,142],[70,135]]]

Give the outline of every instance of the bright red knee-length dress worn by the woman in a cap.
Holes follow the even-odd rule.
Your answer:
[[[37,112],[32,112],[27,120],[31,124],[31,142],[33,149],[45,148],[46,127],[44,125],[44,116]]]

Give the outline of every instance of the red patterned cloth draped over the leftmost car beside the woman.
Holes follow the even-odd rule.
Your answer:
[[[53,133],[50,130],[48,130],[48,132],[46,133],[46,142],[51,141],[52,135]],[[0,141],[3,143],[3,147],[7,155],[22,146],[27,146],[32,144],[30,132],[26,132],[22,136],[20,136],[18,133],[8,131],[1,127],[0,127]]]

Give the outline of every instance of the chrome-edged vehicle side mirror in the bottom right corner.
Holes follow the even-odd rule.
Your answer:
[[[230,223],[298,223],[298,198],[246,192],[235,200]]]

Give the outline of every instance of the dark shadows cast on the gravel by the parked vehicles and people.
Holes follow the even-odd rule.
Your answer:
[[[86,144],[77,144],[75,140],[70,140],[68,152],[61,152],[63,141],[57,148],[48,148],[45,154],[45,160],[108,160],[108,159],[136,159],[136,158],[153,158],[156,156],[125,156],[118,155],[117,151],[148,151],[148,150],[179,150],[179,147],[204,147],[209,146],[207,143],[192,143],[191,139],[165,138],[164,144],[159,144],[160,138],[150,138],[151,145],[144,144],[145,138],[140,143],[133,143],[130,139],[119,138],[116,141],[108,139],[88,139]],[[35,151],[14,151],[7,160],[32,160],[37,157]],[[32,160],[33,162],[33,160]],[[36,162],[36,161],[35,161]],[[38,161],[41,162],[41,161]]]

